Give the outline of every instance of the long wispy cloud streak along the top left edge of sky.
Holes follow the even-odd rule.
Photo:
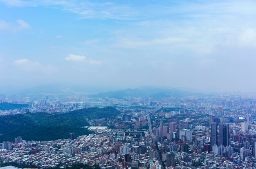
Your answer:
[[[9,7],[50,7],[76,13],[81,15],[81,18],[130,20],[131,18],[134,19],[135,14],[138,13],[131,7],[112,2],[99,3],[84,0],[0,0],[0,2]]]

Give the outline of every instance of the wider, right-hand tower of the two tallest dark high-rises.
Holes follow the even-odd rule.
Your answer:
[[[219,144],[229,146],[229,124],[219,124]]]

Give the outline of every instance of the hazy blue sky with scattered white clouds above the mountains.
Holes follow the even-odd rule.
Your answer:
[[[255,0],[0,0],[0,93],[42,84],[256,91]]]

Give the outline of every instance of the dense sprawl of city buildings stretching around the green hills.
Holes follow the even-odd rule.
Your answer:
[[[92,101],[98,100],[98,101]],[[2,103],[28,105],[1,110],[1,116],[45,111],[55,114],[94,106],[118,110],[108,118],[86,119],[88,135],[76,131],[58,140],[26,140],[16,133],[0,146],[3,163],[60,167],[78,163],[101,168],[255,168],[256,99],[240,95],[38,98]],[[1,104],[2,104],[1,103]],[[25,135],[24,135],[25,136]],[[26,137],[26,136],[25,136]]]

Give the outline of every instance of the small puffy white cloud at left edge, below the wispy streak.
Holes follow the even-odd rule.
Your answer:
[[[10,32],[20,31],[22,29],[29,29],[30,25],[24,20],[17,20],[17,24],[0,21],[0,30],[7,30]]]

